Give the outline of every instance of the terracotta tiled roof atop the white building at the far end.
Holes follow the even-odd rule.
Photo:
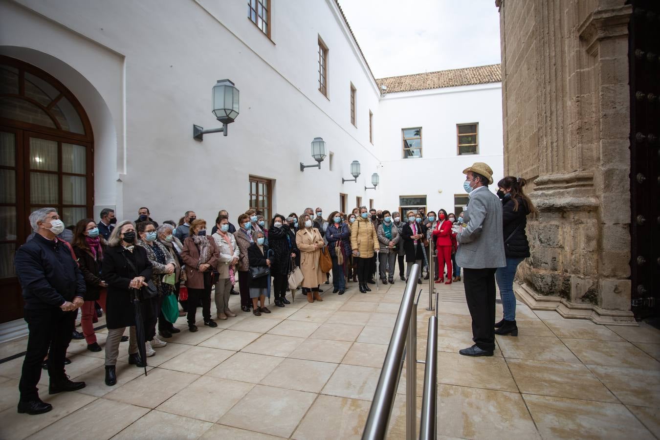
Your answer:
[[[378,86],[386,86],[387,93],[412,92],[432,88],[470,86],[502,81],[502,68],[499,64],[478,67],[465,67],[449,71],[417,73],[401,77],[377,79]]]

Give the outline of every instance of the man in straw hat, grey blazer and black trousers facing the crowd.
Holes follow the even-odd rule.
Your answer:
[[[465,168],[469,194],[463,211],[467,226],[456,236],[456,263],[463,268],[465,298],[472,317],[475,344],[459,350],[465,356],[492,356],[495,350],[495,270],[506,266],[502,237],[502,202],[488,191],[493,171],[483,162]]]

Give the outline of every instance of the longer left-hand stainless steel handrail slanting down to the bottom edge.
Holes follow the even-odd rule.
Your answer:
[[[409,327],[411,323],[411,312],[414,309],[414,293],[419,278],[419,272],[419,265],[413,265],[408,281],[406,282],[406,288],[403,292],[399,314],[397,315],[397,320],[395,321],[394,329],[392,330],[392,338],[387,347],[387,354],[385,354],[385,360],[383,361],[383,369],[381,369],[380,377],[378,378],[374,400],[372,400],[369,416],[366,425],[364,425],[362,440],[381,440],[387,435],[387,425],[389,424],[389,417],[392,413],[397,386],[399,385],[399,377],[401,375],[401,364],[403,361],[404,348],[406,346],[405,335],[407,334],[408,338],[411,337]],[[413,319],[416,321],[416,316],[414,316]],[[416,337],[416,334],[414,337]],[[416,350],[411,350],[411,348],[412,347],[409,347],[409,350],[407,350],[407,356],[408,358],[416,358]],[[415,369],[416,365],[413,364],[413,370]],[[407,369],[406,372],[410,373],[410,370]],[[408,397],[408,400],[411,400],[410,396]],[[413,393],[412,400],[415,400],[415,393]]]

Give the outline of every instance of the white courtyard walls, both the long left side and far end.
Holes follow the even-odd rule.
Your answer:
[[[188,209],[213,221],[226,208],[234,221],[248,207],[249,175],[273,179],[285,214],[329,214],[339,193],[349,210],[356,196],[391,209],[399,195],[421,194],[437,209],[463,192],[467,164],[483,160],[501,175],[499,84],[381,99],[334,0],[273,1],[271,39],[247,11],[245,0],[0,0],[0,50],[57,77],[92,119],[96,213],[116,204],[119,218],[135,219],[145,205],[158,221]],[[319,36],[329,47],[329,98],[317,90]],[[224,78],[240,90],[240,115],[228,137],[197,142],[193,123],[218,127],[211,87]],[[480,156],[456,157],[455,124],[475,121]],[[401,160],[401,128],[413,126],[423,127],[424,158]],[[314,163],[314,137],[334,153],[332,171],[326,158],[321,170],[300,172],[299,162]],[[353,160],[362,175],[342,184]],[[365,191],[374,172],[381,185]]]

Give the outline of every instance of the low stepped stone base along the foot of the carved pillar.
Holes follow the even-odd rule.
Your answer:
[[[554,310],[567,319],[589,319],[602,325],[638,326],[632,311],[603,309],[593,304],[577,304],[558,296],[539,295],[531,286],[513,283],[515,296],[533,310]]]

